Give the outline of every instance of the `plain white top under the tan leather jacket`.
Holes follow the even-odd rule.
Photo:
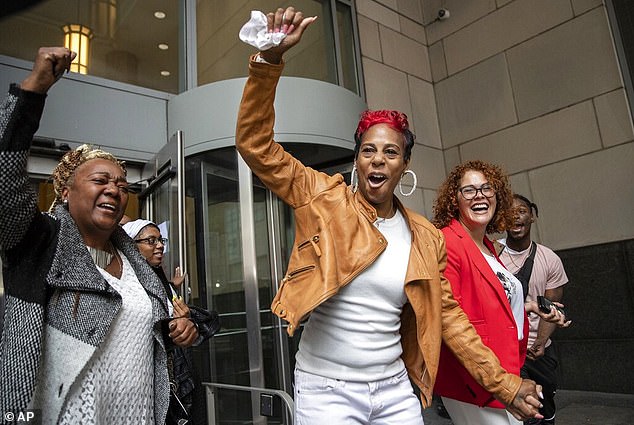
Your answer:
[[[388,241],[385,251],[311,313],[299,342],[298,369],[361,382],[403,370],[399,330],[411,233],[399,211],[375,226]]]

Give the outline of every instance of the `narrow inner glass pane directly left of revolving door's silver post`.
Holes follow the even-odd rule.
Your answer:
[[[250,386],[238,181],[235,176],[215,171],[213,167],[203,167],[202,174],[207,195],[203,207],[207,303],[218,311],[222,323],[210,346],[212,380]],[[235,423],[249,423],[251,409],[245,408],[249,405],[248,393],[219,392],[218,423],[229,418]]]

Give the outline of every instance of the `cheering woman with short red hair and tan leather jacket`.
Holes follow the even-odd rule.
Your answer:
[[[273,140],[282,55],[316,18],[292,7],[267,18],[269,32],[287,35],[251,58],[236,146],[294,209],[294,248],[271,309],[291,335],[308,319],[295,369],[296,423],[422,423],[407,377],[429,406],[441,340],[518,418],[534,416],[534,383],[500,367],[451,296],[442,234],[394,196],[413,146],[405,115],[362,116],[351,186]]]

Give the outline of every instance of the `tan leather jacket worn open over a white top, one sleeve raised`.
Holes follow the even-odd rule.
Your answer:
[[[273,101],[283,65],[251,60],[240,112],[236,147],[251,170],[295,213],[295,244],[288,271],[271,305],[289,323],[299,323],[336,294],[383,252],[386,241],[372,224],[376,210],[353,193],[343,176],[305,167],[273,140]],[[412,231],[405,278],[408,303],[401,314],[403,361],[421,390],[424,407],[438,370],[441,339],[476,380],[505,404],[521,379],[506,373],[486,348],[442,276],[446,252],[442,233],[394,198]]]

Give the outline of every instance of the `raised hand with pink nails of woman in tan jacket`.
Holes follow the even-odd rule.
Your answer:
[[[266,15],[268,32],[282,32],[286,37],[275,47],[260,52],[260,57],[268,63],[278,64],[282,62],[282,55],[299,43],[302,34],[310,24],[315,22],[316,16],[305,18],[304,14],[294,7],[279,8],[275,12]]]

